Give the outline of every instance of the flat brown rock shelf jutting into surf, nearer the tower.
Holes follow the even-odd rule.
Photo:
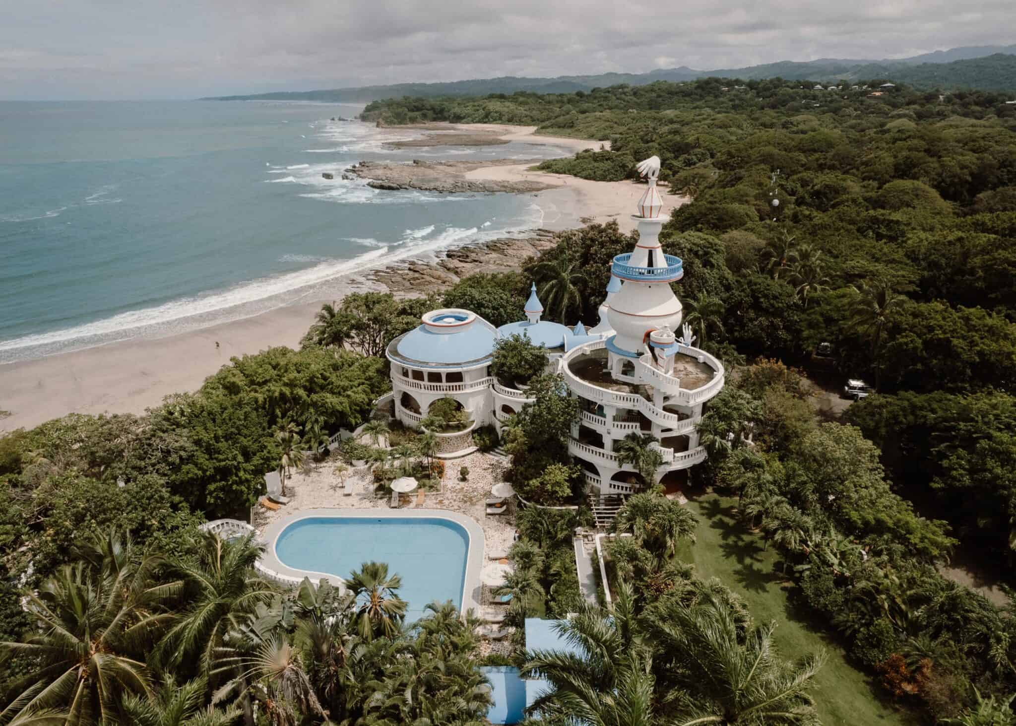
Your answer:
[[[346,169],[375,189],[420,189],[443,192],[534,192],[551,189],[555,185],[541,181],[501,181],[494,179],[467,179],[465,173],[473,169],[498,166],[538,164],[542,160],[495,159],[483,162],[422,162],[393,164],[390,162],[360,162]]]

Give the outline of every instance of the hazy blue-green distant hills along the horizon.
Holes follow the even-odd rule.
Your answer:
[[[573,94],[619,83],[645,85],[657,80],[683,81],[718,76],[758,80],[762,78],[807,79],[815,81],[890,78],[918,88],[943,89],[976,87],[982,90],[1016,90],[1016,45],[971,46],[935,51],[912,58],[892,60],[846,60],[821,58],[797,62],[778,61],[745,68],[695,70],[682,66],[648,73],[600,73],[598,75],[561,75],[555,78],[501,76],[443,83],[395,83],[323,90],[276,92],[250,96],[218,96],[212,101],[319,101],[328,103],[368,103],[379,99],[411,96],[439,98],[448,96],[487,96],[489,94]]]

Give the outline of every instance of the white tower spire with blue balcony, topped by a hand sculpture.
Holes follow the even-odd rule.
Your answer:
[[[681,302],[671,290],[671,283],[684,277],[684,268],[680,257],[663,254],[659,246],[659,228],[664,222],[659,217],[662,200],[656,190],[659,158],[645,160],[638,170],[648,177],[649,188],[639,201],[639,214],[633,215],[638,221],[638,244],[629,254],[615,257],[612,266],[614,277],[623,282],[621,290],[612,296],[608,311],[616,332],[607,342],[612,363],[616,356],[637,358],[646,353],[653,330],[676,330],[681,326]]]

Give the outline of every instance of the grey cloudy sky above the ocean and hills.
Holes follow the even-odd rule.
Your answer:
[[[0,0],[0,99],[898,58],[1013,43],[1013,0]]]

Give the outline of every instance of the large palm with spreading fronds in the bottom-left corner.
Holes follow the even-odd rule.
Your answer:
[[[115,561],[64,565],[24,593],[37,629],[24,643],[0,643],[0,652],[38,667],[12,705],[15,722],[57,714],[67,724],[112,722],[123,697],[153,694],[144,657],[174,618],[167,604],[179,583],[154,581],[157,560],[137,556],[129,539],[111,536],[108,544]]]

